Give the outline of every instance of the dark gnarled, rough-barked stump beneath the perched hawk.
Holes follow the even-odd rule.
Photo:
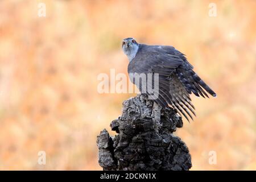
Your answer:
[[[104,170],[188,170],[191,155],[179,137],[182,127],[173,109],[162,109],[138,94],[123,102],[121,117],[110,124],[118,134],[104,129],[97,137],[98,162]]]

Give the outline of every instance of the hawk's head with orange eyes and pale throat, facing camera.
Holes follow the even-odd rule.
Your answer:
[[[123,39],[122,48],[123,52],[128,56],[128,58],[133,59],[133,57],[136,55],[138,51],[139,44],[136,42],[134,38],[126,38]]]

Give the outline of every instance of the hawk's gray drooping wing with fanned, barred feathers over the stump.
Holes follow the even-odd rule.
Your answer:
[[[157,92],[156,95],[158,96],[153,100],[162,107],[171,105],[188,119],[187,114],[191,118],[191,113],[195,115],[195,107],[192,105],[187,90],[176,74],[176,69],[183,65],[184,61],[183,55],[174,47],[140,45],[137,55],[129,63],[128,72],[129,74],[144,74],[146,81],[143,82],[135,82],[134,77],[130,78],[141,92],[144,89],[148,95],[150,95],[149,92],[152,90],[148,89],[147,81],[152,79],[152,89],[154,89],[154,92]],[[148,77],[148,73],[158,73],[157,83],[154,77]],[[158,86],[158,89],[155,89],[154,86]]]

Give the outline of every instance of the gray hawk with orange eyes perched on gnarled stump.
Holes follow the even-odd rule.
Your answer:
[[[192,118],[191,113],[196,116],[195,107],[189,94],[208,97],[206,93],[208,92],[213,97],[217,96],[193,71],[193,66],[188,63],[185,55],[172,46],[148,46],[138,44],[133,38],[126,38],[123,39],[122,49],[129,59],[128,73],[131,82],[141,92],[143,89],[146,90],[146,94],[150,96],[150,91],[155,89],[154,86],[151,90],[148,89],[148,81],[152,81],[152,85],[156,81],[148,75],[158,75],[156,84],[158,97],[151,100],[162,108],[174,107],[188,121],[187,114],[190,118]],[[136,76],[130,76],[135,74],[144,74],[146,80],[142,80],[142,82],[135,81]]]

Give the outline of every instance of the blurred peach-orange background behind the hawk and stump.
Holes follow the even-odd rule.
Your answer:
[[[176,132],[192,169],[255,170],[255,9],[253,0],[1,0],[0,169],[101,170],[96,137],[135,94],[99,94],[97,76],[127,74],[121,42],[131,36],[185,53],[218,94],[192,96],[197,118]]]

